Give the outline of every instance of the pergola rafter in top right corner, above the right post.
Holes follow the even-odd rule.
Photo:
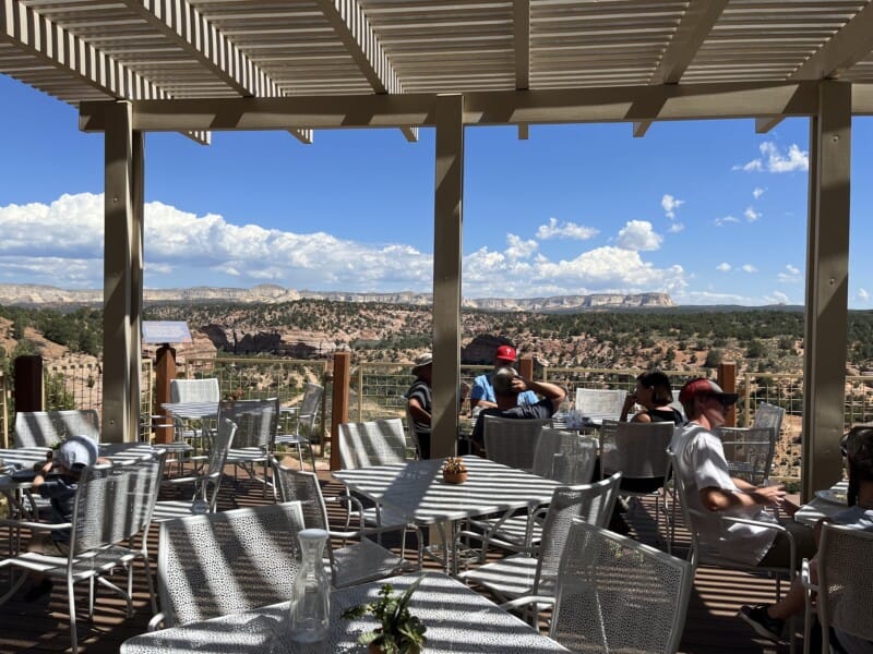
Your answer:
[[[789,78],[838,78],[845,70],[868,57],[871,50],[873,50],[873,4],[868,4],[806,59]],[[784,116],[758,118],[755,120],[755,132],[766,134],[784,118]]]

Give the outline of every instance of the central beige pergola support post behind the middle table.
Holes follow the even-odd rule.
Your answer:
[[[436,99],[433,217],[433,411],[431,458],[455,453],[461,378],[461,257],[464,98]]]

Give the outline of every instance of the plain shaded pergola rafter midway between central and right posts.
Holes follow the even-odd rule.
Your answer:
[[[713,31],[728,0],[691,0],[677,26],[673,38],[661,55],[658,69],[649,84],[679,84],[694,55]],[[634,123],[634,136],[645,136],[651,121]]]

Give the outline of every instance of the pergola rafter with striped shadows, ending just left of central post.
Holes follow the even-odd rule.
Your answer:
[[[316,2],[373,90],[402,94],[403,83],[391,65],[358,0],[316,0]],[[405,126],[402,130],[407,141],[418,141],[416,128]]]

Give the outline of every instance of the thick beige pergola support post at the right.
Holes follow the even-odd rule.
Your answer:
[[[842,474],[849,300],[851,84],[821,82],[810,120],[802,496]]]

